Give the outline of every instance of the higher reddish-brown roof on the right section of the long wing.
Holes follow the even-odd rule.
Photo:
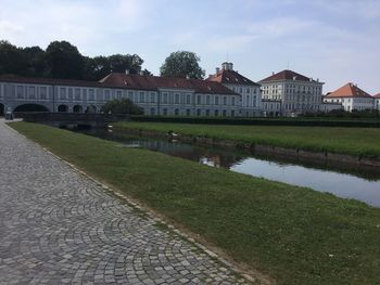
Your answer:
[[[159,89],[190,89],[197,93],[206,94],[231,94],[236,95],[233,91],[225,86],[206,81],[201,79],[186,79],[173,77],[159,77],[150,75],[127,75],[122,73],[112,73],[99,81],[105,86],[140,89],[140,90],[159,90]]]

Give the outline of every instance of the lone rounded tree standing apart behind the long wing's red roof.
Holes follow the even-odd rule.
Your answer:
[[[203,79],[205,72],[200,67],[200,61],[193,52],[173,52],[161,66],[161,76]]]

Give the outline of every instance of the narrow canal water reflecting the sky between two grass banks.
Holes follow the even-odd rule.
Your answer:
[[[263,157],[239,150],[224,150],[190,143],[134,137],[122,131],[90,130],[87,134],[117,141],[125,147],[143,147],[212,167],[262,177],[292,185],[329,192],[380,207],[380,172],[352,169],[342,165],[305,164],[290,158]]]

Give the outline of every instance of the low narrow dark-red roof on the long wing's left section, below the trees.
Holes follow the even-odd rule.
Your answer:
[[[97,81],[20,77],[20,76],[15,76],[15,75],[0,75],[0,81],[15,82],[15,83],[34,83],[34,85],[99,87],[99,82],[97,82]]]

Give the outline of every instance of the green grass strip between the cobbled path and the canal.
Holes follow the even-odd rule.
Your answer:
[[[278,284],[380,282],[380,209],[47,126],[11,126]]]

